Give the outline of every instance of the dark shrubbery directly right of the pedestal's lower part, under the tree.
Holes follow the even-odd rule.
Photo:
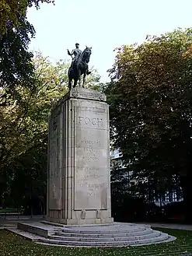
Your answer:
[[[149,209],[145,198],[133,190],[130,176],[127,168],[120,167],[118,161],[113,164],[110,172],[111,212],[117,222],[145,220]]]

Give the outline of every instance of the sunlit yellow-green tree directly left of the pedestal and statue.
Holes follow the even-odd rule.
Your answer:
[[[37,169],[32,168],[32,163],[42,158],[40,152],[43,156],[43,152],[47,154],[48,113],[53,104],[67,92],[66,83],[61,86],[61,80],[65,79],[66,81],[67,79],[65,73],[68,65],[59,63],[54,66],[42,54],[36,54],[33,65],[36,71],[35,81],[37,81],[35,90],[31,91],[28,87],[17,86],[17,98],[20,100],[15,100],[15,97],[10,93],[8,94],[9,105],[3,104],[1,106],[0,195],[2,198],[7,198],[8,188],[12,182],[15,182],[15,179],[20,181],[17,179],[17,174],[19,177],[22,172],[25,173],[23,177],[26,177],[26,174],[31,174],[32,179],[32,177],[36,177],[35,172],[38,171],[38,168],[39,170],[47,168],[40,166],[42,164],[40,160],[38,160],[39,167]],[[3,95],[4,89],[0,93]],[[42,150],[40,150],[41,148]],[[33,149],[36,153],[33,153]],[[28,161],[26,158],[29,158]],[[34,178],[33,181],[36,179]],[[14,188],[16,188],[16,184],[20,186],[15,183]],[[27,182],[26,184],[29,185]],[[17,191],[20,191],[19,187]]]

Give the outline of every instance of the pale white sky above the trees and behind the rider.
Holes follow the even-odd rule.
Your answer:
[[[55,0],[28,11],[36,30],[30,50],[40,50],[53,60],[70,59],[75,43],[93,47],[89,62],[106,82],[113,49],[141,43],[147,34],[158,35],[178,27],[192,26],[191,0]]]

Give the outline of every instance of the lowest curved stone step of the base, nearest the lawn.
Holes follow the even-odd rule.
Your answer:
[[[162,242],[168,240],[169,236],[165,233],[161,233],[159,237],[153,237],[148,239],[135,239],[135,240],[120,240],[120,241],[68,241],[68,240],[54,240],[54,239],[41,239],[39,243],[41,244],[58,244],[71,247],[124,247],[129,245],[145,245],[145,244],[154,244],[156,242]]]

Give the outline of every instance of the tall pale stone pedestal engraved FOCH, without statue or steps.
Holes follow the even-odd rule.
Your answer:
[[[51,111],[47,220],[113,223],[110,212],[109,107],[106,96],[75,88]]]

